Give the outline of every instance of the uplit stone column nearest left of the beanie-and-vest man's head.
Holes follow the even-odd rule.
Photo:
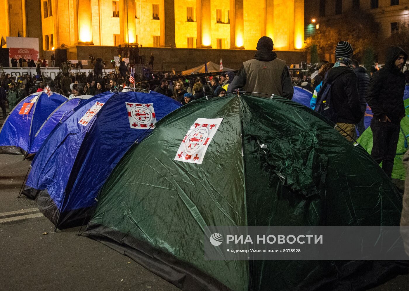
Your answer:
[[[244,49],[243,0],[230,0],[230,48]]]

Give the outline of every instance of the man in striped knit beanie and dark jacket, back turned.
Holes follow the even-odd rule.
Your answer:
[[[317,95],[317,102],[322,100],[326,86],[331,84],[331,103],[335,116],[335,129],[347,140],[356,139],[355,126],[362,118],[360,99],[357,87],[357,76],[351,65],[353,48],[347,41],[340,41],[335,48],[337,62],[328,71],[326,79]]]

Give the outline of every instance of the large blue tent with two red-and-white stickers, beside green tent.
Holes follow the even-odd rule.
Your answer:
[[[156,92],[108,92],[86,100],[45,140],[22,193],[36,199],[56,227],[81,225],[119,159],[180,106]]]

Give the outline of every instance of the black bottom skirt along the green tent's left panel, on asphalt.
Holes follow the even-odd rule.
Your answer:
[[[112,228],[89,223],[81,235],[95,239],[130,257],[182,290],[231,290],[213,277],[176,257]]]

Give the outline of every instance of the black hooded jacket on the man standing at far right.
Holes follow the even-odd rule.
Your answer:
[[[403,94],[405,92],[405,75],[395,66],[400,54],[407,54],[400,47],[390,47],[385,65],[373,73],[368,87],[366,101],[371,106],[373,118],[382,119],[385,115],[395,124],[405,117]]]

